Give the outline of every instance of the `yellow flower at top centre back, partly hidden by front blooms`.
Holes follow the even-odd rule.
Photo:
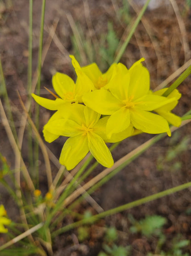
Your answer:
[[[108,89],[110,81],[115,74],[117,63],[113,63],[107,72],[102,74],[96,63],[80,67],[73,55],[70,55],[70,58],[72,59],[72,64],[78,76],[77,81],[79,83],[83,84],[83,86],[87,86],[88,84],[92,90],[101,88]]]

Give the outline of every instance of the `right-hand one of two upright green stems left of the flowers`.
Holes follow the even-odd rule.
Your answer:
[[[40,95],[40,78],[41,78],[41,63],[42,63],[42,45],[43,45],[43,31],[44,31],[44,21],[45,21],[45,3],[46,0],[42,2],[42,12],[41,12],[41,23],[40,23],[40,37],[39,37],[39,56],[38,56],[38,81],[36,86],[36,94]],[[37,130],[39,130],[39,105],[36,104],[36,113],[35,113],[35,125]],[[35,142],[35,162],[37,163],[39,160],[39,143]],[[36,179],[37,184],[39,184],[39,166],[36,164]]]

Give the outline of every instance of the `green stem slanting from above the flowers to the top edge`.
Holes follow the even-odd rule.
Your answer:
[[[125,51],[126,47],[128,46],[129,41],[130,41],[131,37],[133,36],[133,34],[134,34],[134,32],[135,32],[135,30],[136,30],[136,28],[137,28],[137,26],[138,26],[142,16],[144,14],[144,12],[146,11],[146,8],[147,8],[149,2],[150,2],[150,0],[147,0],[145,5],[142,7],[142,9],[141,9],[141,11],[139,13],[139,16],[136,18],[135,23],[133,24],[133,26],[132,26],[132,28],[131,28],[131,30],[129,32],[129,35],[127,36],[125,42],[121,46],[121,48],[120,48],[120,50],[119,50],[119,52],[118,52],[114,62],[118,62],[121,59],[122,55],[124,54],[124,51]]]

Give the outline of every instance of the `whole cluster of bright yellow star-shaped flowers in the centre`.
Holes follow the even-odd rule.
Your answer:
[[[32,94],[41,106],[56,110],[44,126],[45,140],[51,143],[59,136],[69,137],[59,160],[68,170],[89,151],[101,165],[112,167],[106,143],[119,142],[137,130],[152,134],[167,132],[170,136],[169,124],[180,125],[180,117],[171,113],[180,93],[175,89],[163,97],[166,89],[152,92],[149,72],[141,63],[143,58],[129,70],[122,63],[114,63],[102,74],[96,63],[80,67],[74,56],[70,57],[77,74],[76,83],[57,72],[52,78],[58,95],[55,100]]]

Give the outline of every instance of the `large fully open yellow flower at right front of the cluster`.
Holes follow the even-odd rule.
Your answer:
[[[167,132],[171,135],[168,122],[151,111],[174,101],[174,98],[149,94],[150,76],[141,64],[143,60],[135,62],[129,70],[118,63],[109,91],[95,90],[82,98],[84,104],[97,113],[111,115],[106,126],[108,136],[124,131],[130,124],[146,133]]]

